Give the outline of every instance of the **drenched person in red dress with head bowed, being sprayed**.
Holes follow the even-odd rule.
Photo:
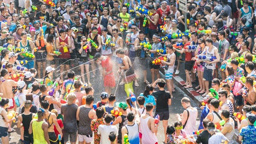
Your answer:
[[[112,62],[108,56],[103,56],[100,52],[94,55],[94,59],[97,59],[97,63],[101,62],[105,92],[111,93],[111,89],[116,86]]]

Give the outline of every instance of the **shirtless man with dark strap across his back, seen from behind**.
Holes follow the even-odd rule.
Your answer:
[[[49,101],[47,100],[43,100],[41,102],[41,106],[42,108],[45,109],[46,111],[46,122],[48,123],[48,135],[49,135],[49,139],[52,140],[52,141],[55,141],[57,138],[56,138],[56,135],[54,133],[54,127],[53,125],[55,125],[57,131],[60,133],[61,135],[61,138],[62,138],[62,132],[61,132],[61,128],[57,122],[57,117],[54,113],[50,112],[49,111],[49,108],[50,108],[50,103]],[[57,142],[52,142],[52,144],[57,144]]]

